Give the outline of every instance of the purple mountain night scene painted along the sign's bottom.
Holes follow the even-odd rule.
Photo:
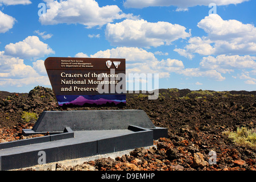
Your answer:
[[[125,95],[56,96],[59,106],[125,106]]]

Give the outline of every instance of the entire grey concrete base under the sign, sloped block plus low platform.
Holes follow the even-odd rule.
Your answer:
[[[109,119],[111,115],[115,116]],[[63,119],[63,123],[57,116]],[[62,127],[64,129],[60,132]],[[76,130],[73,131],[72,127]],[[46,133],[48,129],[52,134],[45,137],[0,144],[0,170],[152,146],[154,139],[168,137],[167,129],[155,127],[143,110],[118,110],[116,113],[113,110],[62,111],[62,114],[46,111],[32,130],[26,129],[23,133]]]

